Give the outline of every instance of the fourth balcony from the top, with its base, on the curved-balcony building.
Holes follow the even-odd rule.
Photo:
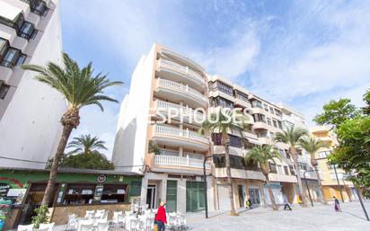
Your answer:
[[[198,132],[165,125],[154,125],[153,140],[164,146],[186,147],[198,151],[207,151],[209,147],[208,138]]]

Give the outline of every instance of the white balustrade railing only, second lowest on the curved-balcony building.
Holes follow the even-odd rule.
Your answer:
[[[198,132],[194,132],[189,129],[177,129],[170,126],[155,125],[155,133],[179,138],[191,138],[203,143],[208,143],[208,139],[205,136],[202,136],[198,134]]]

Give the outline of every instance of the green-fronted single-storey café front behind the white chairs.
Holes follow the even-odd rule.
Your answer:
[[[0,170],[0,201],[10,203],[5,228],[30,224],[40,207],[48,181],[47,170]],[[57,175],[50,220],[66,224],[67,215],[84,217],[86,210],[130,210],[140,197],[142,176],[115,171],[62,169]]]

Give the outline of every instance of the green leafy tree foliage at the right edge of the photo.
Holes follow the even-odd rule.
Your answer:
[[[361,110],[357,110],[348,99],[339,100],[341,103],[336,103],[336,108],[332,107],[334,101],[330,101],[323,106],[322,114],[317,115],[315,121],[321,125],[335,125],[339,146],[328,156],[330,163],[353,173],[351,180],[366,194],[370,192],[369,90],[364,95],[364,101],[366,106]],[[335,111],[339,111],[338,114]]]

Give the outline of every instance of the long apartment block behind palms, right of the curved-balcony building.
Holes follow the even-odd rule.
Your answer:
[[[272,140],[275,133],[282,131],[284,127],[299,127],[305,129],[304,116],[299,112],[283,105],[268,102],[259,96],[250,93],[246,89],[233,84],[221,76],[208,77],[210,110],[213,108],[238,108],[248,111],[251,121],[251,129],[242,132],[229,134],[230,147],[229,154],[231,158],[234,205],[236,208],[245,207],[245,201],[251,199],[252,204],[266,206],[270,204],[269,193],[265,187],[265,177],[260,172],[258,164],[245,164],[243,156],[255,146],[272,145],[278,149],[281,154],[281,160],[276,159],[276,163],[270,163],[269,167],[269,187],[272,188],[275,200],[278,204],[284,202],[284,196],[290,202],[297,201],[297,187],[294,164],[287,153],[285,144],[275,144]],[[213,134],[212,141],[214,145],[214,164],[216,176],[216,209],[229,209],[230,202],[228,198],[228,188],[226,183],[225,169],[225,150],[221,145],[221,139],[218,134]],[[304,190],[310,190],[313,200],[320,197],[320,191],[317,189],[317,179],[310,164],[310,156],[300,150],[299,158],[300,176],[307,182]]]

